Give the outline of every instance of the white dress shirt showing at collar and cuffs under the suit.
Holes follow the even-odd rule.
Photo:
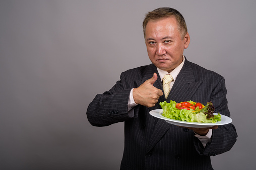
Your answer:
[[[172,88],[180,70],[182,69],[183,65],[184,65],[184,62],[185,62],[185,58],[183,56],[183,60],[182,62],[174,69],[172,70],[169,74],[172,76],[173,78],[173,81],[170,83],[170,89]],[[163,77],[168,74],[167,71],[164,71],[164,70],[161,70],[159,68],[157,68],[157,71],[158,71],[158,74],[161,78],[161,81],[163,80]],[[132,110],[133,107],[137,106],[137,104],[135,103],[134,101],[134,97],[133,97],[133,89],[131,90],[131,93],[130,93],[130,98],[129,98],[129,102],[128,102],[128,115],[130,117],[133,117],[134,116],[134,112],[130,112]],[[202,142],[203,146],[205,147],[207,142],[211,142],[211,136],[212,136],[212,129],[209,129],[209,132],[205,135],[205,136],[201,136],[199,134],[195,134],[196,137],[199,138],[199,140]]]

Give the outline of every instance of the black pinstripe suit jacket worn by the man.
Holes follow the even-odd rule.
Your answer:
[[[213,129],[212,141],[204,148],[193,130],[178,127],[149,114],[159,109],[162,95],[152,107],[138,105],[127,115],[127,103],[132,88],[150,79],[157,68],[151,64],[121,73],[120,81],[89,104],[87,118],[94,126],[107,126],[124,121],[124,152],[120,169],[213,169],[210,156],[226,152],[236,141],[233,124]],[[154,86],[163,90],[160,77]],[[185,59],[167,98],[176,102],[212,101],[215,112],[230,116],[225,80],[219,74],[206,70]]]

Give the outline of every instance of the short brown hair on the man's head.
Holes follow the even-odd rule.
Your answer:
[[[177,24],[178,24],[178,30],[181,35],[181,39],[183,40],[187,33],[185,20],[184,20],[183,16],[177,10],[172,9],[172,8],[158,8],[158,9],[148,12],[146,14],[145,19],[142,24],[144,38],[146,38],[145,29],[146,29],[146,26],[149,21],[159,20],[159,19],[168,18],[168,17],[175,17]]]

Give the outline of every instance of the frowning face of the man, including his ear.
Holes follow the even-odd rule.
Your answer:
[[[161,70],[171,72],[183,59],[183,51],[189,45],[188,33],[181,40],[174,17],[149,21],[145,29],[145,41],[149,59]]]

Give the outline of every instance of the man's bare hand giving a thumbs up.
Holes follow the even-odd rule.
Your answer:
[[[157,74],[146,80],[140,87],[133,90],[133,97],[136,104],[147,107],[154,107],[160,96],[163,95],[162,90],[153,86],[157,80]]]

